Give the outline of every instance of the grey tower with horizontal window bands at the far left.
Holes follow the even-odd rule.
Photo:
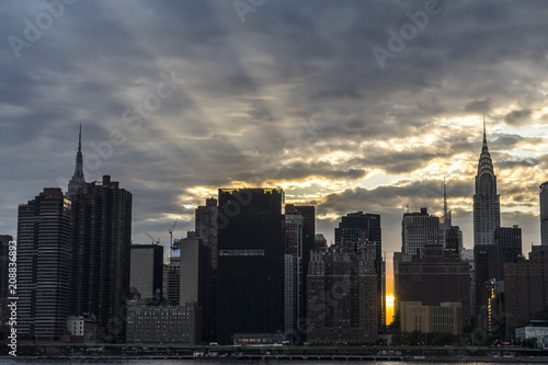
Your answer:
[[[46,187],[19,206],[18,335],[57,341],[70,315],[70,201]]]

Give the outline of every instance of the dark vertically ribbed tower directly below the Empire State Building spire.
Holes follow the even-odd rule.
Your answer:
[[[103,341],[123,341],[129,293],[132,193],[111,176],[72,195],[75,315],[94,313]]]

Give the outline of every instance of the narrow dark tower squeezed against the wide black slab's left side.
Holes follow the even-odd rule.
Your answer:
[[[196,236],[202,239],[202,242],[208,250],[208,284],[207,294],[204,297],[203,305],[203,323],[202,332],[204,341],[215,342],[217,333],[217,258],[218,258],[218,228],[219,209],[217,199],[212,197],[206,199],[205,206],[198,206],[196,209]]]

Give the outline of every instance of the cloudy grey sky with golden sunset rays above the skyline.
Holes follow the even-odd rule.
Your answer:
[[[409,204],[472,247],[482,114],[502,225],[539,243],[548,180],[546,1],[3,1],[0,233],[72,175],[134,194],[133,239],[168,244],[218,187],[282,186],[340,216],[381,215],[401,247]]]

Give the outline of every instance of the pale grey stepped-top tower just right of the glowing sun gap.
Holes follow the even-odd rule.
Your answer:
[[[403,261],[411,261],[413,255],[424,255],[424,248],[443,244],[439,218],[431,216],[426,208],[421,212],[404,213],[401,221],[401,252]]]

